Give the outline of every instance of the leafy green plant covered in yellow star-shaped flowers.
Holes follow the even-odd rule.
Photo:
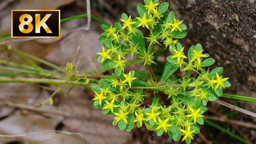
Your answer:
[[[138,128],[145,124],[157,135],[168,133],[174,141],[184,135],[182,141],[190,144],[193,135],[200,131],[198,124],[204,123],[201,117],[207,111],[207,102],[218,99],[222,88],[231,84],[228,78],[220,76],[222,67],[209,70],[215,60],[203,54],[200,44],[191,46],[188,54],[184,54],[178,39],[186,36],[187,27],[175,18],[173,11],[164,14],[169,7],[167,2],[144,1],[145,5],[137,5],[139,17],[133,19],[123,13],[123,24],[102,25],[105,32],[99,38],[103,46],[102,52],[97,53],[100,55],[97,61],[103,68],[115,71],[101,79],[100,86],[91,87],[95,92],[93,107],[115,116],[113,125],[121,130],[130,131],[135,124]],[[139,27],[149,30],[149,36],[144,37]],[[155,45],[160,45],[160,50],[156,50]],[[161,77],[157,78],[152,65],[158,63],[160,51],[163,53],[167,48],[171,55],[167,57]],[[144,71],[125,73],[129,55],[130,59],[134,56],[142,59],[150,76]],[[178,69],[183,77],[169,79]],[[192,77],[191,72],[197,76]],[[152,102],[146,103],[145,99]]]

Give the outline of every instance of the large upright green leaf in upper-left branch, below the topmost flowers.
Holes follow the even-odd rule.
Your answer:
[[[146,45],[145,45],[145,39],[143,36],[143,33],[137,29],[137,32],[135,33],[136,36],[131,37],[131,41],[134,45],[137,45],[140,47],[140,53],[144,54],[146,52]]]

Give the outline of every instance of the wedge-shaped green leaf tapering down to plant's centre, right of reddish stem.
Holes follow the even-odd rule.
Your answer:
[[[168,60],[167,60],[168,61]],[[178,70],[179,67],[176,66],[176,64],[172,64],[169,61],[165,63],[164,72],[161,77],[161,81],[167,81],[168,78]]]

